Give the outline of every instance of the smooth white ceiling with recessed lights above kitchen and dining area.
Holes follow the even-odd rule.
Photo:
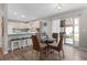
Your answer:
[[[56,3],[9,3],[8,19],[31,21],[87,7],[85,3],[62,3],[61,6],[62,9],[57,9]]]

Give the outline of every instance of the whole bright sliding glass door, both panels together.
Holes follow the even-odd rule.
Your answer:
[[[78,45],[79,41],[79,19],[68,18],[65,20],[65,43]]]

